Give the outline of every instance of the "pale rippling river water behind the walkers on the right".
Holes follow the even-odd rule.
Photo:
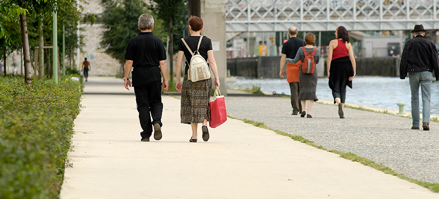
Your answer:
[[[398,102],[404,102],[405,111],[411,111],[411,91],[409,78],[401,80],[392,77],[355,77],[353,89],[347,87],[346,102],[370,105],[375,107],[390,108],[398,110]],[[260,87],[261,91],[284,93],[291,95],[286,79],[245,79],[236,78],[236,82],[227,83],[232,88]],[[420,110],[422,111],[421,88]],[[439,82],[433,81],[432,99],[430,114],[439,115]],[[332,100],[332,92],[328,86],[328,78],[319,78],[317,82],[317,98]]]

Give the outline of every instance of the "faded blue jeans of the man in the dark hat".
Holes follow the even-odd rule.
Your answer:
[[[409,73],[410,89],[412,90],[413,126],[419,127],[419,85],[422,93],[422,121],[430,123],[430,90],[433,74],[430,71]]]

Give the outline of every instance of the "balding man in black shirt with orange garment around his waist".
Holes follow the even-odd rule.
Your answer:
[[[305,46],[305,41],[297,38],[297,28],[292,26],[288,28],[288,35],[290,39],[282,46],[282,56],[280,57],[280,73],[279,76],[284,78],[283,68],[285,67],[286,58],[294,59],[300,47]],[[302,105],[298,100],[299,97],[299,67],[302,62],[296,64],[286,64],[286,80],[290,85],[291,91],[291,106],[293,107],[292,115],[298,115],[302,110]]]

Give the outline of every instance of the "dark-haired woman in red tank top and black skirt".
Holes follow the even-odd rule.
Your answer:
[[[352,89],[352,79],[356,75],[354,51],[349,42],[349,33],[345,27],[339,26],[335,38],[329,42],[326,68],[329,78],[329,88],[332,90],[334,103],[338,104],[338,114],[344,118],[346,86]]]

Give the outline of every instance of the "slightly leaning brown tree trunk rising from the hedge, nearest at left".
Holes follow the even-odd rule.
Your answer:
[[[27,85],[32,84],[32,72],[30,66],[30,50],[29,39],[27,37],[27,21],[26,15],[20,14],[20,28],[21,28],[21,42],[23,45],[23,60],[24,60],[24,82]]]

